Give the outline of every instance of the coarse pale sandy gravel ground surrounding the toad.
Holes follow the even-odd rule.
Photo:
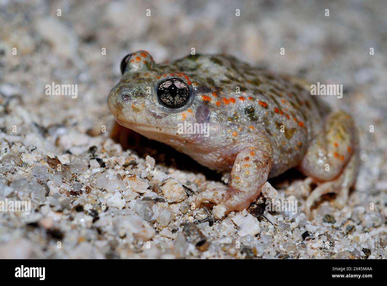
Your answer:
[[[275,2],[0,0],[0,201],[31,202],[29,214],[0,212],[0,258],[385,258],[387,4]],[[324,196],[308,220],[303,177],[288,172],[271,183],[297,214],[265,212],[273,226],[251,208],[214,222],[193,200],[226,176],[158,143],[123,150],[109,138],[122,57],[191,48],[343,85],[323,100],[359,128],[344,208]],[[77,98],[46,95],[53,82],[77,84]]]

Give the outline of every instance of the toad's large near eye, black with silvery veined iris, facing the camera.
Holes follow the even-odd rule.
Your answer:
[[[165,79],[157,88],[157,97],[159,102],[166,107],[182,107],[190,99],[190,88],[181,79]]]

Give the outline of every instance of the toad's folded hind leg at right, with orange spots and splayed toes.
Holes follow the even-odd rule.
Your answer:
[[[324,131],[308,147],[299,169],[321,183],[305,202],[305,212],[326,193],[337,193],[336,205],[343,207],[358,171],[358,137],[352,117],[343,111],[330,114]]]

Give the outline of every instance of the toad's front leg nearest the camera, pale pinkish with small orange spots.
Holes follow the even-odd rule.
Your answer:
[[[271,144],[261,136],[258,142],[242,148],[229,175],[228,188],[204,191],[197,195],[197,207],[204,201],[216,203],[214,216],[223,217],[230,210],[247,208],[266,183],[272,164]]]

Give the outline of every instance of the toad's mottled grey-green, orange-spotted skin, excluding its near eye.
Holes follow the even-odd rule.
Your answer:
[[[169,109],[158,102],[157,86],[167,78],[190,86],[191,99],[183,107]],[[342,171],[356,157],[357,136],[349,115],[330,114],[291,78],[226,55],[190,55],[156,65],[139,51],[110,91],[108,105],[121,125],[210,169],[231,171],[229,188],[200,193],[197,205],[209,200],[226,211],[243,209],[267,177],[296,166],[316,181],[342,181]],[[209,136],[178,134],[184,121],[209,123]],[[348,175],[349,185],[355,173]]]

